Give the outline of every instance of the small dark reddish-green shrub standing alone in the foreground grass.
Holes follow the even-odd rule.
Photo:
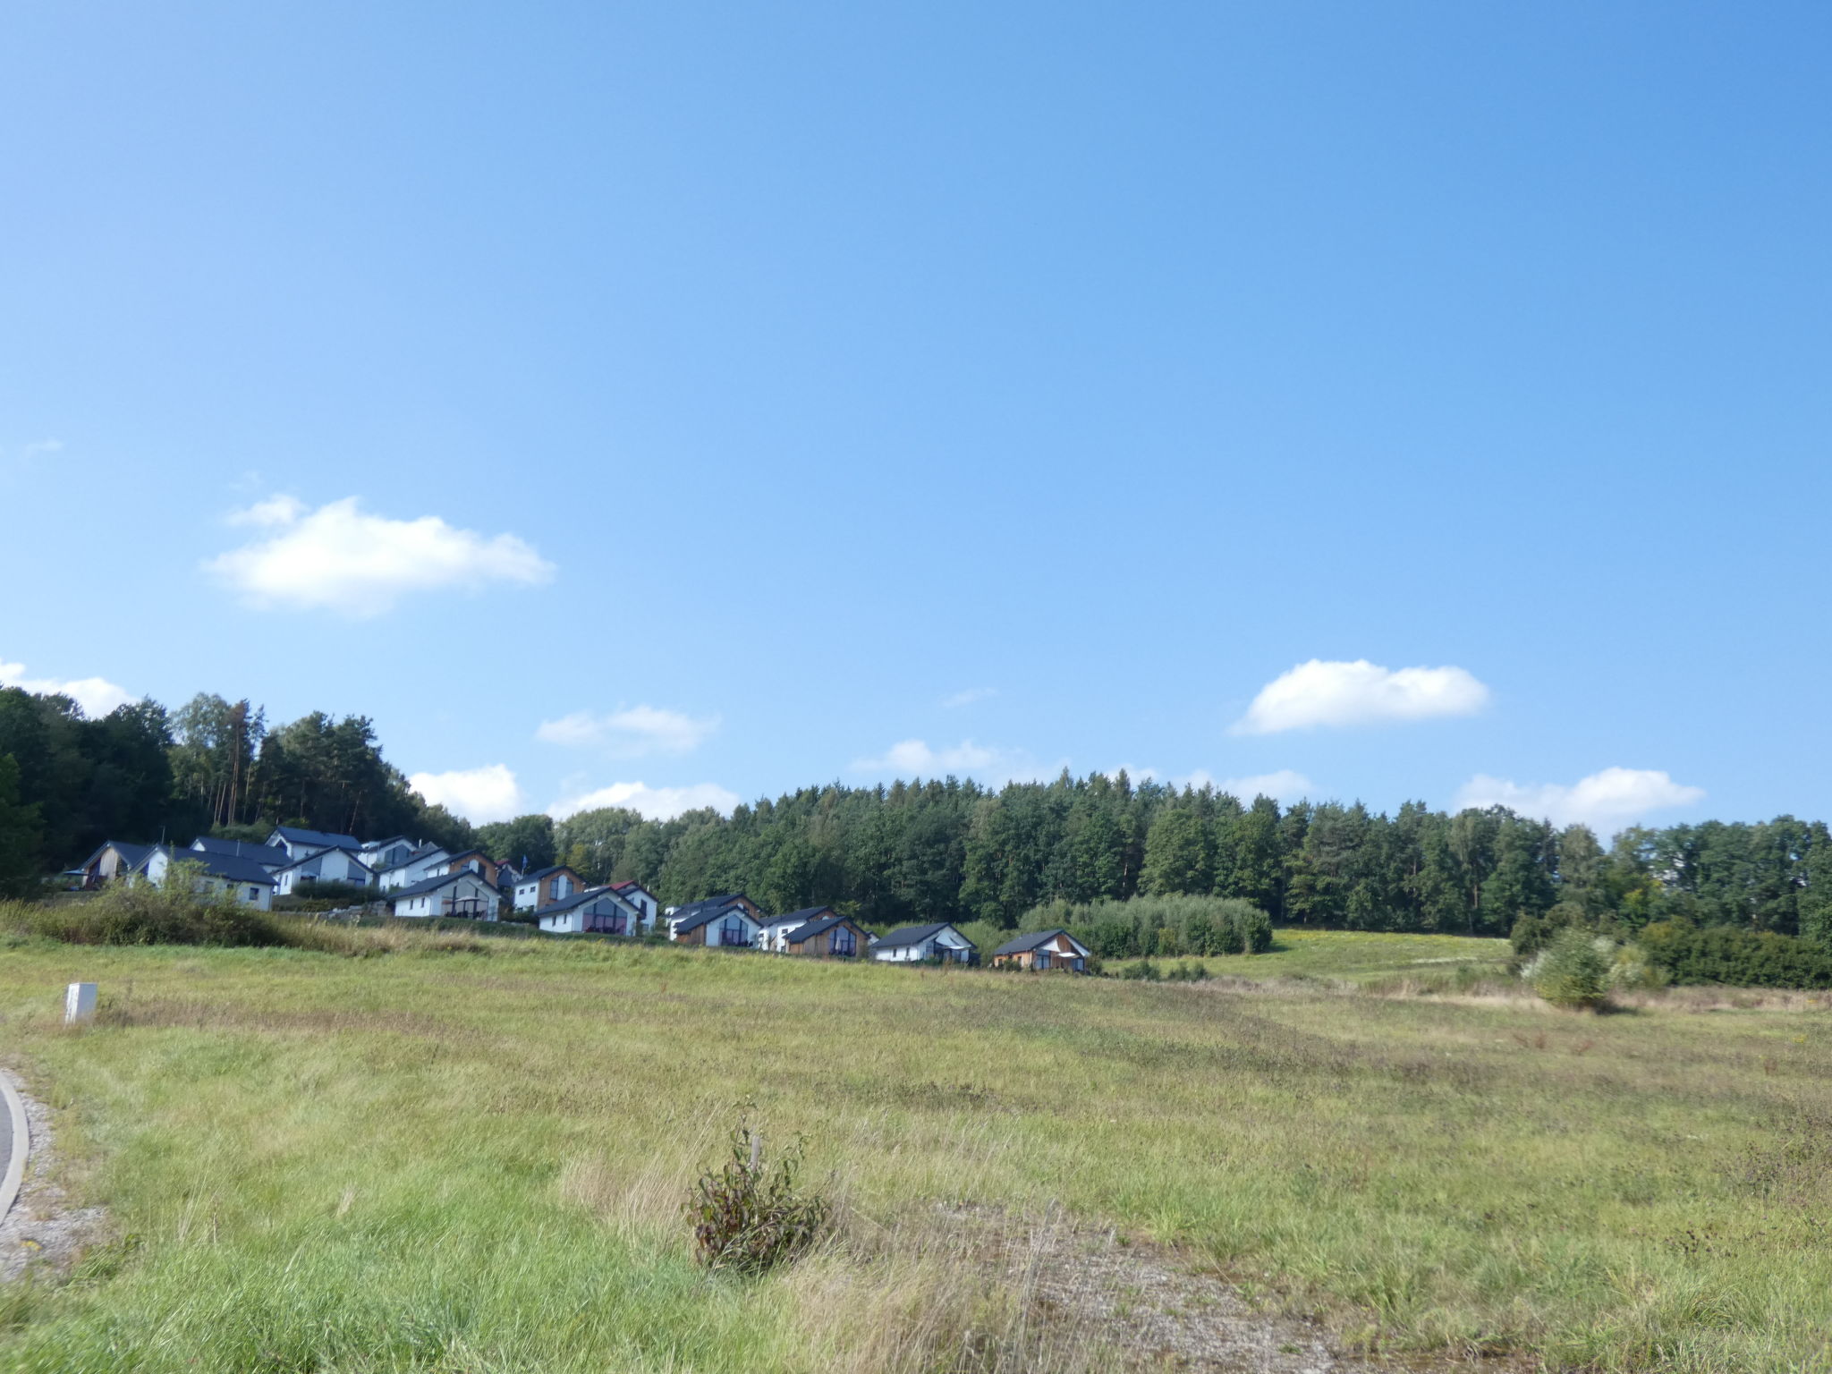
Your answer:
[[[709,1270],[762,1273],[819,1240],[834,1207],[795,1187],[799,1169],[799,1143],[769,1165],[762,1136],[740,1121],[731,1132],[731,1158],[718,1172],[702,1174],[687,1202],[700,1262]]]

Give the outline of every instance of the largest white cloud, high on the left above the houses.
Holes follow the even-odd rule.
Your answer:
[[[203,570],[260,608],[366,617],[390,610],[409,592],[535,586],[553,577],[553,564],[515,535],[454,529],[436,515],[390,520],[359,509],[355,496],[315,511],[293,496],[275,496],[229,520],[266,533],[207,559]]]

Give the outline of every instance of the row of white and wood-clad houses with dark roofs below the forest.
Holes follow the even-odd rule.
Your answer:
[[[947,921],[872,934],[832,907],[769,916],[744,892],[724,892],[661,909],[641,883],[590,885],[566,865],[522,872],[482,850],[418,845],[405,835],[361,843],[297,826],[277,826],[266,843],[202,835],[189,848],[106,841],[70,878],[82,889],[110,881],[165,883],[172,865],[189,865],[202,890],[269,911],[275,898],[308,896],[328,883],[374,889],[372,901],[401,918],[495,921],[504,909],[533,918],[550,934],[656,936],[707,949],[854,958],[879,964],[980,962],[980,949]],[[341,890],[341,889],[339,889]],[[1041,931],[991,953],[995,965],[1085,973],[1090,953],[1068,931]]]

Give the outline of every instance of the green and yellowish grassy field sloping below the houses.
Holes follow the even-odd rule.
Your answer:
[[[4,1057],[115,1235],[0,1299],[0,1369],[1037,1367],[965,1336],[1011,1312],[938,1204],[1174,1242],[1387,1352],[1832,1369],[1825,1009],[1369,991],[1500,954],[1431,936],[1209,960],[1264,986],[453,943],[0,949]],[[77,976],[106,1015],[64,1031]],[[846,1242],[709,1279],[678,1207],[742,1099]]]

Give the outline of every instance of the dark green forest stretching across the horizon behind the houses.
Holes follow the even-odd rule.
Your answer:
[[[418,797],[363,716],[269,727],[249,702],[101,720],[62,696],[0,691],[0,887],[24,892],[104,839],[264,837],[277,823],[405,834],[493,857],[636,878],[665,903],[742,890],[769,911],[832,905],[876,925],[982,920],[1046,903],[1238,898],[1279,925],[1506,936],[1654,921],[1799,934],[1832,947],[1823,821],[1630,828],[1603,843],[1506,808],[1394,813],[1240,799],[1107,777],[810,786],[650,821],[595,810],[471,826]]]

